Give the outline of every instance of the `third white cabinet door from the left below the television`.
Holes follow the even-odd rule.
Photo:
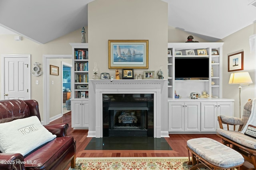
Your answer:
[[[201,103],[201,131],[214,132],[217,127],[217,103]]]

